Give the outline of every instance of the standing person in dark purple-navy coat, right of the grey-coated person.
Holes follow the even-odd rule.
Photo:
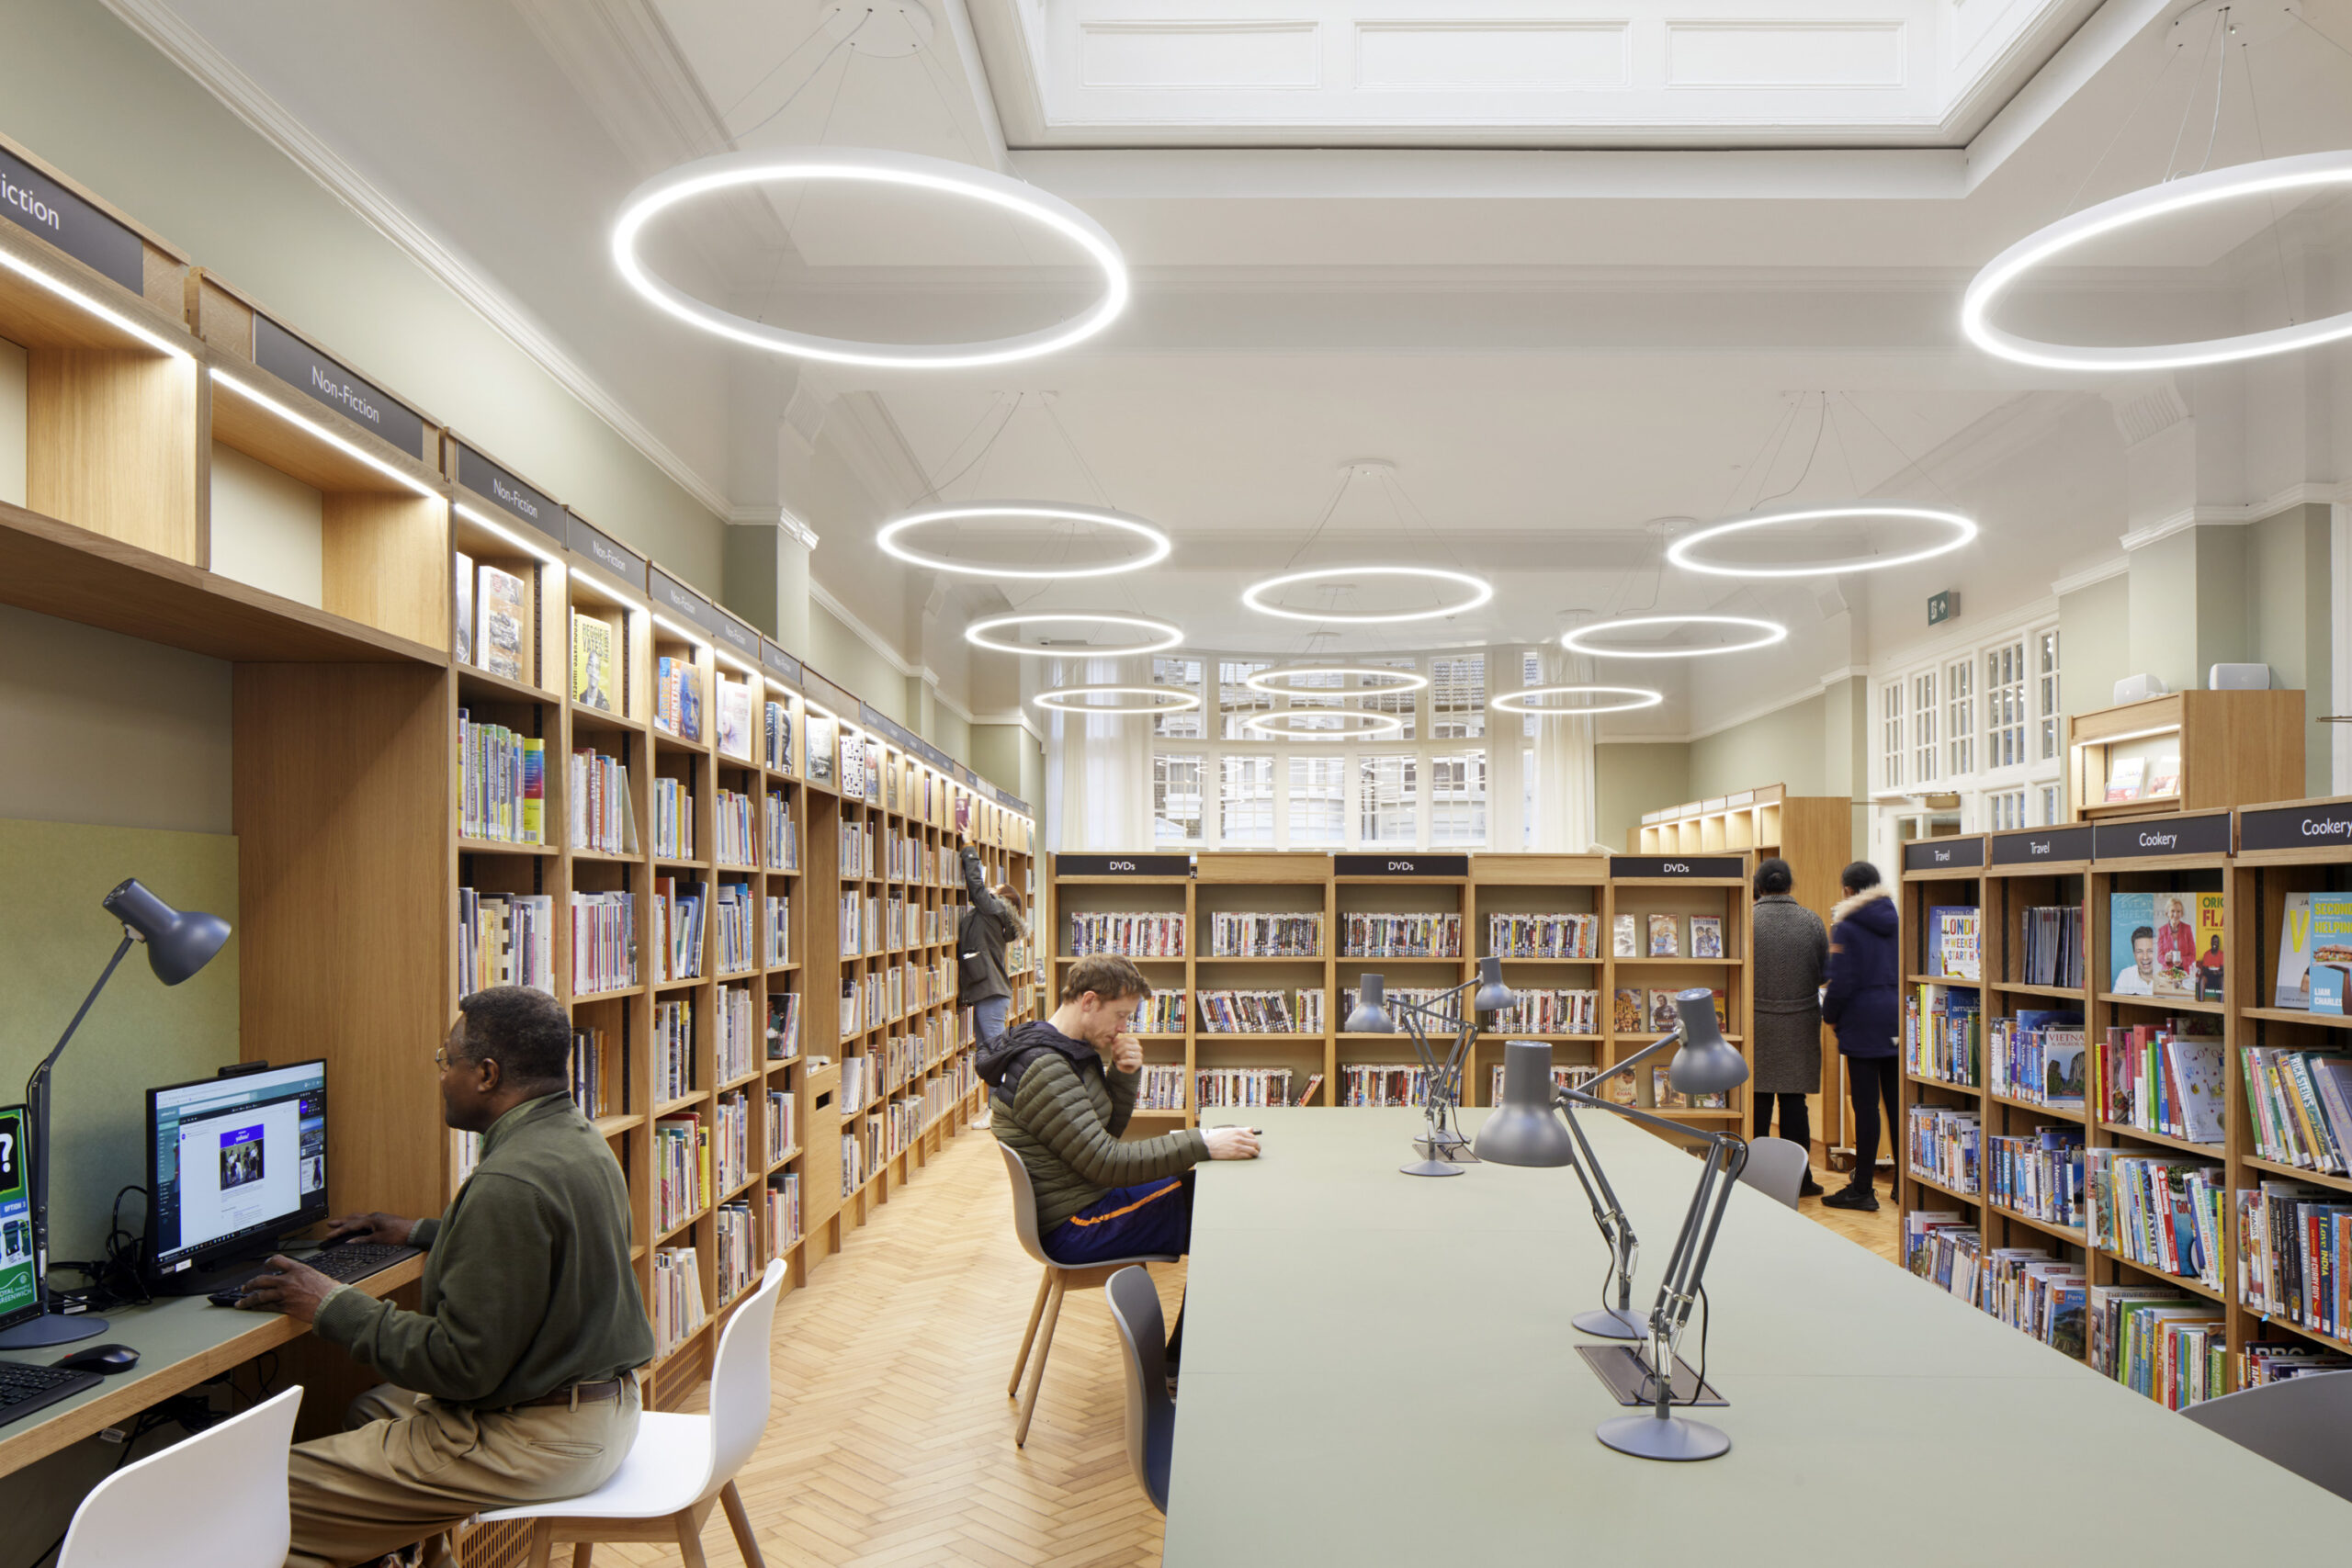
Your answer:
[[[1830,910],[1830,990],[1820,1016],[1837,1030],[1846,1058],[1846,1095],[1853,1105],[1853,1180],[1820,1199],[1830,1208],[1879,1206],[1870,1178],[1879,1168],[1879,1105],[1886,1131],[1900,1138],[1896,1103],[1903,1081],[1898,1037],[1903,1030],[1900,919],[1896,900],[1879,882],[1879,867],[1856,860],[1839,872],[1844,900]]]

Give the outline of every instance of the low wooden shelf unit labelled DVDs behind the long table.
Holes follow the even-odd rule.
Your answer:
[[[1642,947],[1623,959],[1621,917]],[[1651,917],[1661,947],[1672,931],[1672,952],[1649,952]],[[1494,1103],[1505,1041],[1541,1039],[1562,1070],[1597,1072],[1672,1027],[1663,1016],[1649,1027],[1653,1004],[1689,985],[1722,992],[1726,1037],[1743,1051],[1748,1041],[1745,856],[1061,853],[1049,922],[1056,992],[1068,966],[1098,950],[1134,957],[1155,987],[1162,1011],[1138,1032],[1157,1070],[1131,1124],[1143,1138],[1301,1095],[1322,1107],[1411,1103],[1418,1058],[1402,1030],[1341,1027],[1367,971],[1399,997],[1451,990],[1482,957],[1503,959],[1503,978],[1526,992],[1526,1023],[1548,1027],[1482,1025],[1465,1105]],[[1618,992],[1635,1009],[1623,1020]],[[1442,1056],[1451,1030],[1425,1027]],[[1637,1103],[1656,1105],[1658,1086],[1639,1077]],[[1745,1091],[1722,1107],[1670,1098],[1658,1110],[1729,1126]]]

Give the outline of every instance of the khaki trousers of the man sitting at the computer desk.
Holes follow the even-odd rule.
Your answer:
[[[480,1509],[593,1493],[637,1439],[637,1401],[635,1380],[576,1410],[466,1410],[379,1385],[350,1401],[350,1432],[287,1458],[287,1568],[372,1563]]]

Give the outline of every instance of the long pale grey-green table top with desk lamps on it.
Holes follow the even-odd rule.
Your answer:
[[[1740,1187],[1698,1418],[1731,1453],[1604,1448],[1576,1354],[1609,1253],[1571,1171],[1411,1178],[1416,1110],[1251,1110],[1200,1166],[1164,1568],[1689,1561],[1806,1568],[2336,1561],[2352,1502]],[[1475,1126],[1482,1112],[1465,1112]],[[1642,1237],[1646,1314],[1698,1161],[1581,1117]],[[1682,1354],[1700,1356],[1698,1316]],[[1987,1521],[1999,1521],[1987,1530]],[[2307,1554],[2307,1556],[2305,1556]]]

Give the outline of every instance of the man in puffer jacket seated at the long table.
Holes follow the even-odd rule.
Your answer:
[[[1256,1159],[1247,1126],[1178,1128],[1122,1143],[1143,1084],[1143,1041],[1127,1032],[1152,994],[1131,961],[1070,964],[1051,1018],[981,1046],[997,1140],[1028,1166],[1037,1237],[1054,1262],[1087,1265],[1192,1248],[1192,1166]],[[1183,1314],[1169,1335],[1169,1375],[1183,1347]]]

